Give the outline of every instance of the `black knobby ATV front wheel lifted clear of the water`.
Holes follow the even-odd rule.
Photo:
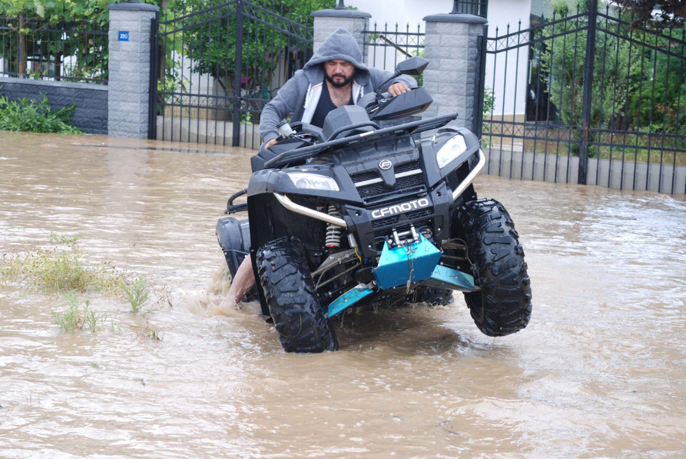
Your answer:
[[[531,318],[531,288],[510,214],[500,202],[482,199],[462,204],[456,217],[481,287],[464,294],[477,327],[487,336],[524,329]]]

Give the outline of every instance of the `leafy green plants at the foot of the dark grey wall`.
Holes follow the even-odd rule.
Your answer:
[[[82,134],[80,129],[69,124],[74,110],[76,106],[71,105],[53,111],[43,93],[40,101],[27,97],[10,101],[1,96],[0,130]]]

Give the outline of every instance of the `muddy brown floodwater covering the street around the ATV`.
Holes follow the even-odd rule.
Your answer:
[[[62,296],[1,289],[0,457],[686,456],[683,196],[481,176],[525,247],[527,329],[483,336],[456,296],[352,314],[339,352],[292,355],[222,302],[214,227],[250,154],[0,134],[0,253],[78,235],[173,304],[91,294],[107,321],[69,334]]]

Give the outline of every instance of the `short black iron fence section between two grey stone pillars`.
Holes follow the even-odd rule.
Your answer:
[[[374,29],[362,31],[364,41],[364,60],[370,67],[384,70],[394,70],[398,62],[412,56],[424,56],[424,33],[421,25],[410,27],[395,27],[388,29],[388,23],[383,30],[374,23]]]

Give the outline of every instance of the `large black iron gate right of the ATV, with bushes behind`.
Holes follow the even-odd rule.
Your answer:
[[[597,3],[487,38],[487,172],[686,193],[685,32]]]

